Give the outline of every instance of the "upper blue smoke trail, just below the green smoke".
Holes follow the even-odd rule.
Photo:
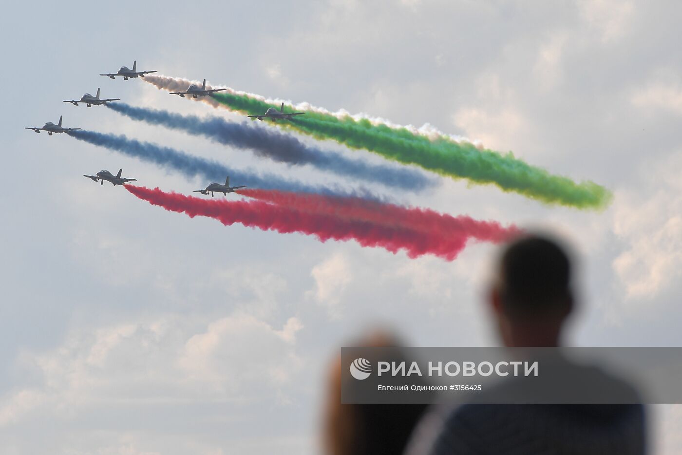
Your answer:
[[[410,191],[424,190],[436,184],[416,169],[384,164],[368,164],[346,158],[335,151],[308,146],[291,134],[263,128],[249,123],[233,123],[220,117],[202,119],[195,115],[181,115],[158,109],[140,108],[125,103],[107,104],[108,108],[132,119],[205,136],[233,147],[252,149],[264,156],[288,164],[312,164],[317,168],[345,177],[364,179]]]

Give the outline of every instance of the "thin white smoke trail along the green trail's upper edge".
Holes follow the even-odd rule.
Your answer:
[[[145,76],[144,80],[148,83],[153,84],[155,87],[158,89],[164,89],[168,91],[186,91],[187,87],[190,86],[190,84],[197,84],[201,85],[202,81],[196,81],[196,80],[188,80],[188,79],[183,79],[183,78],[174,78],[170,76],[162,76],[162,75],[155,75],[155,74],[149,74]],[[454,141],[456,143],[471,143],[475,145],[476,147],[482,147],[482,144],[480,141],[472,141],[471,139],[465,138],[464,136],[458,136],[456,134],[447,134],[445,132],[442,132],[435,126],[431,125],[430,123],[424,123],[421,127],[417,128],[416,126],[413,125],[400,125],[398,123],[394,123],[388,119],[383,119],[381,117],[373,117],[372,115],[368,115],[366,113],[359,113],[359,114],[351,114],[349,111],[346,111],[345,109],[340,109],[336,112],[329,111],[325,108],[321,108],[318,106],[313,106],[312,104],[308,102],[300,102],[300,103],[293,103],[291,100],[282,100],[280,98],[265,98],[265,96],[258,95],[257,93],[249,93],[248,91],[241,91],[241,90],[235,90],[231,87],[227,86],[222,86],[227,89],[229,93],[232,93],[234,95],[239,95],[239,96],[248,96],[249,98],[254,98],[255,100],[259,100],[262,102],[266,102],[268,104],[274,104],[278,105],[281,103],[286,104],[287,106],[293,106],[294,109],[300,110],[300,111],[313,111],[325,115],[333,115],[334,117],[338,119],[346,119],[346,118],[351,118],[356,121],[358,120],[368,120],[370,123],[373,125],[385,125],[389,128],[393,128],[395,130],[398,130],[400,128],[404,128],[411,132],[412,134],[419,135],[419,136],[424,136],[426,138],[429,138],[431,141],[435,141],[436,139],[448,139],[449,141]],[[207,89],[213,88],[211,85],[208,83],[206,84]],[[194,99],[194,98],[189,98],[189,99]],[[221,104],[220,102],[214,100],[213,98],[209,96],[203,96],[201,98],[197,98],[196,101],[203,101],[206,104],[209,104],[215,108],[224,108],[225,106]]]

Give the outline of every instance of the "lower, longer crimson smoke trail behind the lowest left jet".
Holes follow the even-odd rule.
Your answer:
[[[184,213],[194,218],[207,216],[229,226],[240,223],[264,231],[303,233],[321,241],[353,239],[361,246],[381,247],[396,253],[404,250],[411,258],[434,254],[449,261],[456,258],[466,245],[466,235],[452,235],[444,239],[406,226],[387,226],[366,220],[355,220],[330,214],[317,214],[271,204],[263,201],[228,201],[201,199],[159,188],[125,186],[139,199],[168,211]]]

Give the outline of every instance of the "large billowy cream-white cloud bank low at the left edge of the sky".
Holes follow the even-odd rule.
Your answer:
[[[0,426],[37,409],[75,416],[104,403],[263,396],[281,402],[282,387],[300,370],[295,341],[302,328],[295,317],[276,328],[248,314],[210,323],[170,314],[147,323],[75,330],[55,349],[23,353],[19,366],[38,370],[42,385],[6,394]]]

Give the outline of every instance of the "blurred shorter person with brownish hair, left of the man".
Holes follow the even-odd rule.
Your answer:
[[[384,330],[351,344],[355,347],[398,347]],[[323,447],[327,455],[399,455],[426,410],[426,405],[344,405],[341,403],[340,355],[329,376],[323,415]]]

